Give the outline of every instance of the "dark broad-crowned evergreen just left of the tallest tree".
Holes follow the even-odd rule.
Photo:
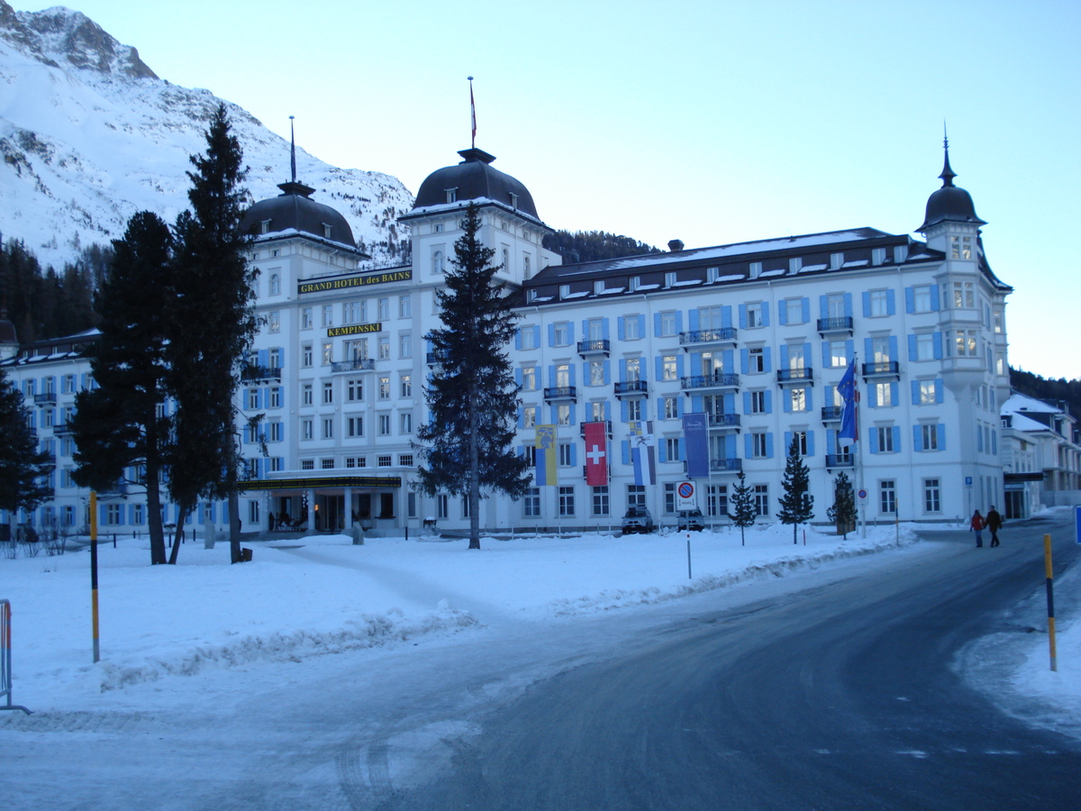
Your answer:
[[[74,478],[80,487],[105,490],[128,468],[145,466],[137,483],[146,487],[150,562],[164,563],[160,474],[170,421],[159,407],[165,401],[172,235],[157,214],[143,211],[114,245],[112,272],[96,301],[102,336],[89,350],[97,385],[76,395],[71,417]]]

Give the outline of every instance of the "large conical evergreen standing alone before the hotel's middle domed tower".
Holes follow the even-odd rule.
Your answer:
[[[425,464],[417,489],[465,495],[469,548],[480,548],[482,489],[511,497],[530,483],[529,463],[511,451],[518,391],[506,354],[515,317],[495,280],[495,251],[479,239],[480,215],[470,203],[454,243],[446,290],[437,291],[442,327],[426,337],[439,365],[425,390],[431,421],[417,430]]]

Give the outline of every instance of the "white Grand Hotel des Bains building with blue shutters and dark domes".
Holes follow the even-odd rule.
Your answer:
[[[775,520],[793,437],[811,471],[816,521],[825,521],[842,471],[866,490],[868,521],[942,521],[1002,503],[1012,288],[990,269],[985,223],[953,185],[948,155],[918,228],[924,241],[856,228],[702,249],[673,242],[668,253],[576,264],[542,248],[551,229],[519,181],[480,149],[459,155],[461,163],[429,175],[400,218],[412,237],[400,267],[365,269],[344,217],[295,181],[250,210],[263,325],[238,406],[243,417],[264,418],[262,436],[241,431],[245,531],[266,529],[270,513],[319,530],[359,521],[400,533],[428,518],[440,529],[468,527],[463,500],[429,498],[411,482],[425,380],[438,361],[424,335],[437,323],[435,294],[470,202],[520,318],[508,347],[521,385],[517,443],[532,453],[536,425],[557,425],[559,443],[556,484],[519,501],[484,500],[482,527],[608,528],[631,503],[673,523],[689,412],[709,415],[711,473],[697,492],[717,521],[740,470],[762,520]],[[56,456],[54,500],[21,521],[86,520],[65,424],[75,390],[88,385],[78,348],[89,340],[8,340],[3,350],[39,439]],[[836,387],[853,359],[862,401],[850,454],[837,444]],[[653,423],[653,487],[635,486],[633,421]],[[606,487],[585,482],[586,422],[608,428]],[[106,531],[145,526],[136,484],[99,504]],[[171,520],[175,506],[168,509]],[[223,526],[224,505],[205,504],[191,520]]]

